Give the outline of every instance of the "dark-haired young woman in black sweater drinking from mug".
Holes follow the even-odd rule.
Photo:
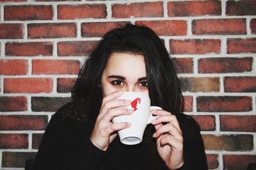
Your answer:
[[[129,122],[124,91],[148,95],[159,117],[143,141],[120,143],[117,131]],[[200,127],[182,114],[184,100],[173,60],[148,27],[128,24],[109,31],[84,62],[72,89],[45,130],[34,169],[207,169]]]

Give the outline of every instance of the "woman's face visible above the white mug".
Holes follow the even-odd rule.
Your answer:
[[[103,97],[113,91],[136,91],[148,96],[145,61],[142,55],[113,53],[102,73]]]

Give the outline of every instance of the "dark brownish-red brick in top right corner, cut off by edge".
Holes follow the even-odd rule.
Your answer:
[[[256,15],[256,1],[227,1],[226,15]]]

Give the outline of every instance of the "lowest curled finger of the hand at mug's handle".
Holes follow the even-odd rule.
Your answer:
[[[172,150],[183,150],[183,142],[171,135],[164,135],[160,140],[160,145],[163,147],[166,144],[172,146]]]

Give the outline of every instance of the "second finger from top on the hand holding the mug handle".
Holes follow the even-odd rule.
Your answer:
[[[178,122],[178,120],[177,120],[175,115],[173,115],[173,114],[163,114],[163,115],[160,115],[158,118],[156,118],[155,121],[152,122],[152,124],[153,125],[157,125],[159,123],[162,124],[163,122],[172,123],[179,130],[179,132],[182,133],[182,131],[180,129],[179,122]]]

